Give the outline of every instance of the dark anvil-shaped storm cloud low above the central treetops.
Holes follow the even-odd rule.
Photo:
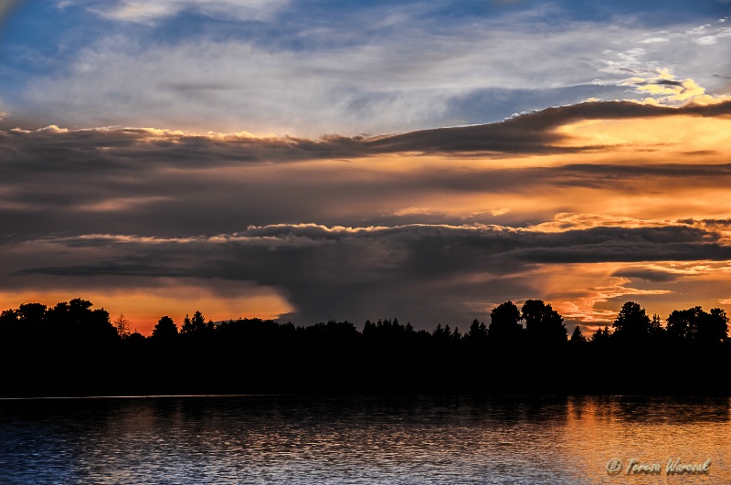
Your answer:
[[[44,262],[5,285],[48,277],[251,281],[288,296],[297,322],[330,315],[402,315],[421,323],[478,316],[465,300],[535,296],[520,275],[536,263],[731,259],[718,235],[694,227],[595,227],[543,233],[507,227],[376,228],[276,225],[217,237],[61,237],[42,244]],[[53,253],[54,256],[50,254]],[[103,258],[86,255],[103,254]],[[483,275],[477,282],[474,275]],[[644,274],[654,280],[658,275]],[[634,275],[640,276],[640,275]],[[434,292],[440,296],[434,297]]]

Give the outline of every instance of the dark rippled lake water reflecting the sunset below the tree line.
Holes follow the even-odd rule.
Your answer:
[[[0,401],[0,483],[731,483],[729,398]],[[606,469],[622,460],[619,475]],[[630,459],[662,473],[630,475]],[[711,459],[668,475],[669,459]]]

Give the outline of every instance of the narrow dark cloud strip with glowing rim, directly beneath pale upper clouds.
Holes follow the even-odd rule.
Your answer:
[[[526,113],[502,122],[440,128],[402,134],[323,136],[307,139],[290,136],[255,135],[249,132],[196,134],[154,128],[59,128],[36,131],[14,129],[2,134],[0,142],[12,143],[16,153],[34,157],[49,147],[62,156],[82,150],[99,156],[131,162],[144,156],[144,163],[200,163],[214,160],[220,165],[240,162],[279,162],[315,158],[347,158],[381,153],[574,153],[560,146],[567,135],[557,132],[578,121],[672,118],[681,116],[724,118],[731,115],[731,101],[711,105],[687,104],[678,108],[643,105],[630,101],[594,101]],[[56,135],[63,134],[63,137]],[[22,147],[22,148],[21,148]],[[588,146],[588,149],[594,148]],[[102,150],[104,152],[102,152]],[[208,155],[210,153],[210,155]]]

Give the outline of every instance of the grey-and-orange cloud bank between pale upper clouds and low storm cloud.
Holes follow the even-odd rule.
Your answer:
[[[566,230],[657,226],[668,214],[718,218],[729,209],[726,145],[703,131],[727,138],[729,111],[728,102],[679,108],[594,102],[489,125],[315,140],[153,128],[8,130],[0,132],[0,222],[16,235],[43,227],[186,237],[300,221],[532,223]],[[682,121],[683,133],[661,129],[649,147],[655,152],[643,144],[641,151],[622,145],[622,152],[577,137],[584,132],[561,132],[602,120],[614,123],[599,126],[604,134],[621,134],[632,123],[649,133],[648,120],[661,127]],[[624,132],[634,136],[640,129]],[[686,134],[693,140],[675,146],[668,133],[671,142]],[[687,155],[689,146],[700,151]],[[708,148],[715,150],[702,150]],[[564,213],[607,220],[554,218]]]

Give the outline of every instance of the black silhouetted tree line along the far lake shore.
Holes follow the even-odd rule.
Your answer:
[[[488,324],[431,332],[394,319],[295,326],[169,316],[152,335],[88,300],[0,312],[3,396],[247,393],[729,394],[722,309],[673,311],[634,301],[609,325],[570,337],[542,300],[505,301]],[[672,385],[667,381],[672,380]],[[683,383],[683,384],[679,384]]]

